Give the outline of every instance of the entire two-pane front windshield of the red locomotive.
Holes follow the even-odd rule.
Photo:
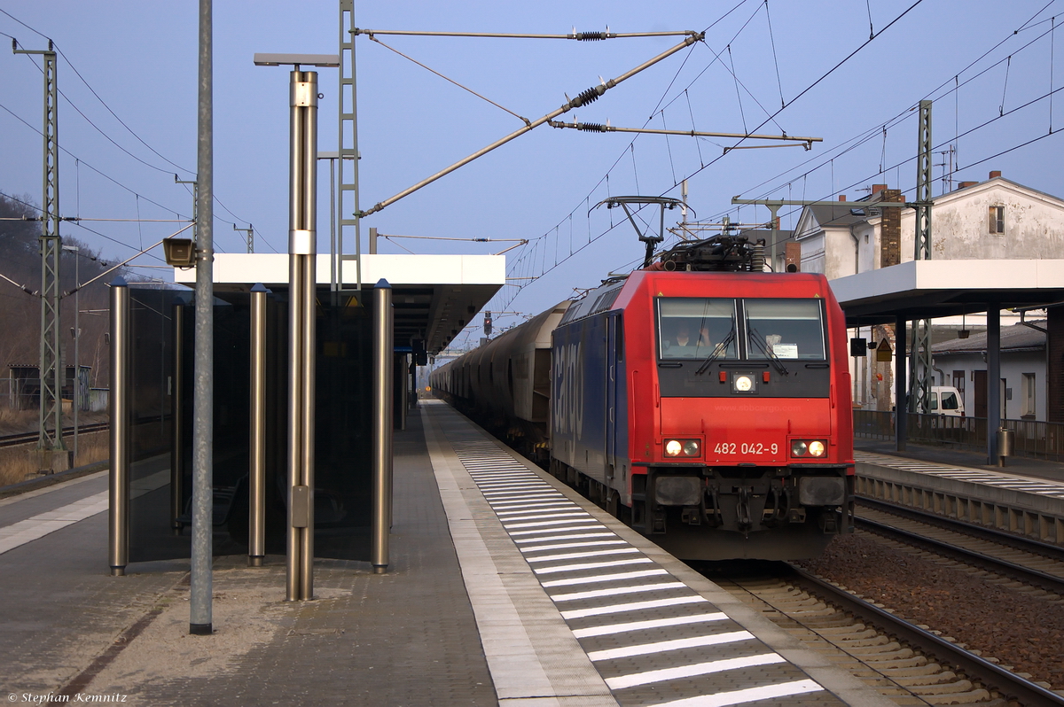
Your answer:
[[[661,298],[659,358],[825,360],[820,300]]]

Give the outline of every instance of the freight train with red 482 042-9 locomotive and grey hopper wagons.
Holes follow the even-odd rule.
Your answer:
[[[691,560],[801,559],[852,531],[846,324],[764,243],[681,243],[436,369],[433,391]]]

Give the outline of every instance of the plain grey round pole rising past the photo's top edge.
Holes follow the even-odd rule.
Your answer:
[[[196,149],[196,352],[193,401],[193,553],[188,633],[210,635],[214,506],[214,87],[212,0],[199,2]]]

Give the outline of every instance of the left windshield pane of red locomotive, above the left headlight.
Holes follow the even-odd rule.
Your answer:
[[[737,358],[735,301],[667,298],[658,301],[661,358]]]

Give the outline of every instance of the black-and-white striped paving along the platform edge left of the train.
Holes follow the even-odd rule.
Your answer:
[[[449,442],[619,704],[842,704],[496,444]]]

